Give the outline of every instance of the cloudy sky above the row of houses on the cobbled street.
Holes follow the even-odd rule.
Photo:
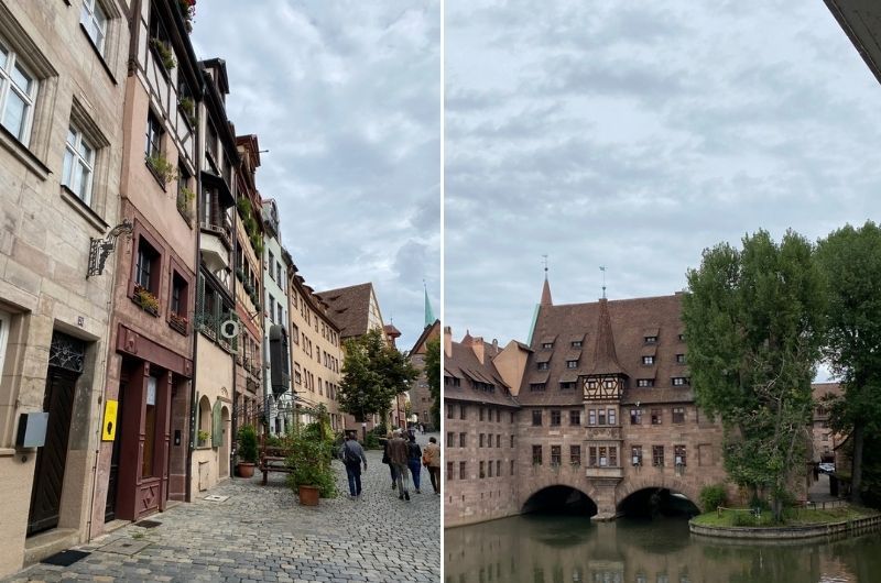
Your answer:
[[[258,8],[259,7],[259,8]],[[412,348],[440,298],[438,0],[199,1],[198,58],[227,63],[227,113],[257,134],[257,184],[320,292],[373,282]]]

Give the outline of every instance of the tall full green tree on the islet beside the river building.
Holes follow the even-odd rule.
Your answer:
[[[811,421],[811,382],[820,358],[824,296],[813,249],[788,231],[766,231],[738,251],[720,243],[688,271],[683,300],[698,406],[725,426],[725,466],[782,519]]]

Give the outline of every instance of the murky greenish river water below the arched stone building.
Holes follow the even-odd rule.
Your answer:
[[[523,515],[444,532],[445,583],[881,582],[881,534],[743,543],[686,518]]]

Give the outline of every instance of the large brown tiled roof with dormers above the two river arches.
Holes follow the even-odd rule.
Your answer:
[[[608,300],[605,302],[606,309],[602,309],[602,304],[601,300],[540,307],[531,346],[534,352],[526,362],[518,395],[520,405],[580,405],[584,402],[581,387],[561,391],[559,383],[570,382],[574,374],[603,373],[628,377],[622,403],[694,400],[690,386],[674,387],[672,383],[673,377],[688,376],[687,366],[676,363],[676,354],[685,353],[685,342],[678,339],[683,330],[682,297],[672,295]],[[646,344],[646,336],[656,336],[657,342]],[[542,340],[548,337],[566,340],[585,338],[577,370],[566,369],[568,350],[541,350]],[[537,370],[540,354],[551,354],[547,371]],[[650,354],[655,356],[655,363],[642,364],[642,356]],[[534,378],[540,373],[547,374],[545,389],[530,391],[530,383],[537,382]],[[654,387],[637,388],[638,378],[653,378]]]

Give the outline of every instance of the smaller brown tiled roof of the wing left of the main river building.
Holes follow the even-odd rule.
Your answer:
[[[468,334],[463,340],[470,342],[474,339]],[[510,387],[502,381],[502,376],[492,364],[492,356],[498,353],[493,351],[492,344],[483,344],[486,356],[482,364],[477,360],[470,343],[453,342],[452,348],[453,353],[444,359],[444,376],[452,376],[461,381],[458,387],[444,384],[445,399],[505,405],[509,407],[518,406],[516,400],[511,396]],[[471,384],[472,381],[492,384],[494,389],[490,392],[475,388]]]

